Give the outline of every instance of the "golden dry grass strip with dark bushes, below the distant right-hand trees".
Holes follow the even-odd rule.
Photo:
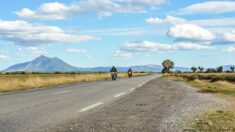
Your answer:
[[[235,83],[233,81],[226,80],[226,78],[234,78],[235,74],[171,74],[164,77],[175,81],[184,81],[189,83],[193,87],[199,88],[200,92],[209,92],[235,97]]]

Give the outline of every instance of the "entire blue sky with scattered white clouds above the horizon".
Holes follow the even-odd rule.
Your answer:
[[[235,65],[235,1],[1,0],[0,70],[45,55],[78,67]]]

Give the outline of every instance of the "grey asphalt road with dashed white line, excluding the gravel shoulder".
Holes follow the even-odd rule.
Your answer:
[[[0,132],[43,131],[118,100],[159,76],[0,94]]]

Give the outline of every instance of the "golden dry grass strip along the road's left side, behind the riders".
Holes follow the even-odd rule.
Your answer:
[[[144,76],[148,74],[150,73],[134,73],[133,76]],[[119,73],[118,77],[127,77],[127,74]],[[106,80],[109,78],[109,73],[0,75],[0,92],[11,92],[62,84]]]

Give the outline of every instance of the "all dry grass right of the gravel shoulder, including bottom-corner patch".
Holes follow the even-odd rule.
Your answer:
[[[171,74],[164,78],[183,81],[198,88],[202,93],[213,93],[235,100],[235,74]],[[206,113],[190,127],[199,132],[235,132],[235,104],[224,111]]]

